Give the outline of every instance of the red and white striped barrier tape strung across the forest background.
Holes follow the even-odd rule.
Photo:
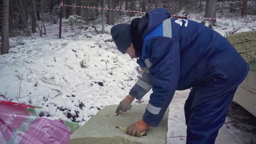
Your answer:
[[[147,12],[144,12],[144,11],[135,11],[135,10],[96,8],[96,7],[86,7],[86,6],[79,6],[79,5],[65,5],[65,4],[61,4],[61,7],[78,7],[78,8],[90,8],[90,9],[128,11],[128,12],[132,12],[132,13],[147,13]],[[230,18],[211,18],[211,17],[194,17],[194,16],[181,16],[181,15],[172,15],[172,16],[187,17],[187,18],[194,18],[194,19],[206,19],[206,20],[235,20],[235,21],[245,21],[245,22],[254,22],[255,21],[255,20],[239,20],[239,19],[230,19]]]

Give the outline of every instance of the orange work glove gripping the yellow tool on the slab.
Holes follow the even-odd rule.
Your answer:
[[[143,121],[143,119],[139,120],[136,123],[133,123],[126,129],[126,134],[131,136],[141,137],[141,133],[145,130],[148,130],[149,125]]]

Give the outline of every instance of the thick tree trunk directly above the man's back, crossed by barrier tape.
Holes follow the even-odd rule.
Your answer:
[[[216,9],[217,9],[217,0],[207,0],[205,17],[216,18]],[[215,26],[216,20],[208,20],[208,21],[210,21],[211,25]]]

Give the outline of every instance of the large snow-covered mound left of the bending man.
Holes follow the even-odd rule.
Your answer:
[[[42,106],[51,118],[76,122],[87,121],[105,105],[118,104],[136,82],[136,63],[119,55],[114,43],[104,42],[109,34],[79,36],[76,41],[68,36],[24,39],[24,45],[2,55],[0,92],[8,100]]]

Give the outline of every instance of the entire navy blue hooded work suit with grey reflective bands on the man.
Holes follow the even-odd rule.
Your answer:
[[[157,127],[174,92],[192,88],[184,106],[187,143],[214,143],[249,65],[211,28],[172,19],[163,8],[146,15],[148,26],[137,60],[146,73],[129,93],[141,99],[153,88],[143,121]]]

